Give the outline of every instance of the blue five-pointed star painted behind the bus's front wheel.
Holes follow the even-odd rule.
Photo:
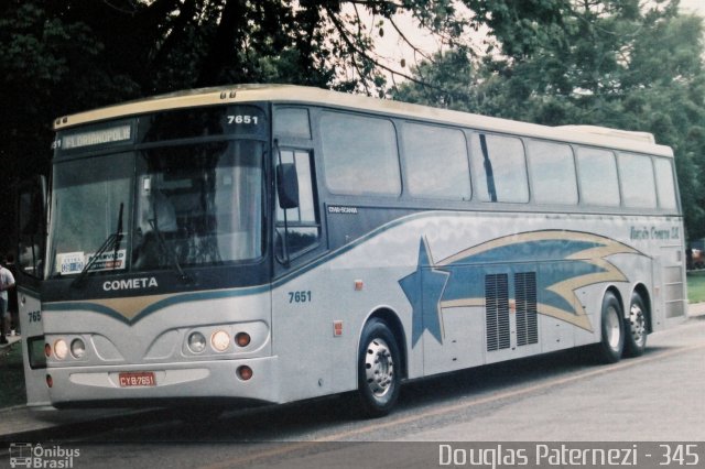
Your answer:
[[[449,276],[448,272],[433,266],[429,246],[422,238],[416,270],[399,281],[412,307],[412,347],[416,346],[426,329],[438,343],[443,343],[441,298]]]

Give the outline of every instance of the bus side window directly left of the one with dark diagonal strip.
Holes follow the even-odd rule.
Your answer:
[[[463,132],[408,123],[402,141],[406,187],[411,195],[470,199],[470,168]]]

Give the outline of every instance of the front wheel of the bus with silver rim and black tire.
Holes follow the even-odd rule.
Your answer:
[[[384,321],[373,318],[362,329],[358,350],[358,396],[367,417],[381,417],[397,403],[401,355]]]

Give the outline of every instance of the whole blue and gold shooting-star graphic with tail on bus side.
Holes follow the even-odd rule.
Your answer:
[[[416,270],[399,281],[413,309],[412,343],[425,330],[443,343],[444,309],[485,306],[485,276],[536,272],[539,314],[593,331],[575,291],[600,282],[626,282],[608,258],[643,253],[614,239],[581,231],[528,231],[492,239],[434,261],[421,239]]]

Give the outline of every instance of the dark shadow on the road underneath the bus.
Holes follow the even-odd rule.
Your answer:
[[[664,348],[648,348],[651,356]],[[629,360],[639,360],[629,359]],[[386,418],[531,385],[544,380],[598,369],[589,349],[572,349],[509,362],[482,366],[405,383],[394,412]],[[354,393],[293,404],[234,408],[199,406],[155,411],[139,422],[94,432],[89,441],[198,443],[280,441],[322,436],[343,426],[362,426]],[[315,437],[314,436],[314,437]]]

